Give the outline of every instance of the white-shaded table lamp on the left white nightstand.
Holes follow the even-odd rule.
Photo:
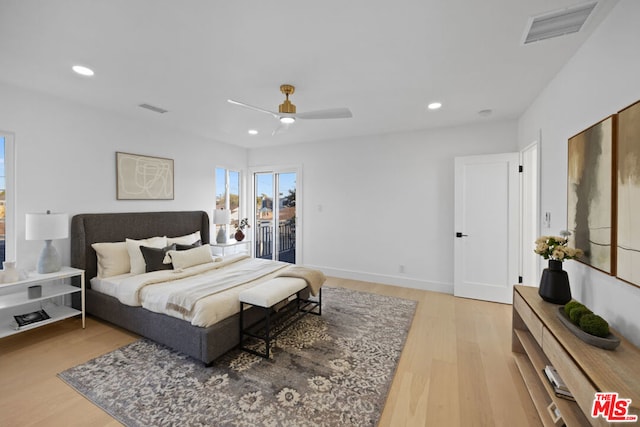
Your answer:
[[[60,254],[51,244],[54,239],[69,237],[69,215],[63,213],[28,213],[26,214],[25,238],[27,240],[44,240],[44,249],[38,258],[38,273],[54,273],[60,270]]]

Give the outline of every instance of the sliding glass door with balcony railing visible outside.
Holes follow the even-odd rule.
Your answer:
[[[296,263],[297,172],[254,173],[255,256]]]

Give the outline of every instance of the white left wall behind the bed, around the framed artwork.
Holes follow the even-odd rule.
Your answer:
[[[211,213],[215,167],[243,170],[246,165],[242,148],[13,86],[0,84],[0,93],[0,129],[15,134],[16,260],[21,269],[34,269],[44,246],[44,242],[24,240],[27,212],[50,209],[70,216],[154,210]],[[174,159],[175,199],[116,200],[116,151]],[[54,245],[63,264],[68,264],[69,240],[54,241]]]

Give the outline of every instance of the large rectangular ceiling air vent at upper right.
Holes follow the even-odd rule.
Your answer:
[[[529,19],[524,44],[577,33],[586,22],[598,2],[588,2]]]

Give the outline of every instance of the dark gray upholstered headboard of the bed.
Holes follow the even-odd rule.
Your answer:
[[[98,271],[97,242],[122,242],[126,238],[177,237],[200,230],[202,244],[209,244],[209,215],[204,211],[90,213],[71,219],[71,266],[85,270],[89,279]]]

